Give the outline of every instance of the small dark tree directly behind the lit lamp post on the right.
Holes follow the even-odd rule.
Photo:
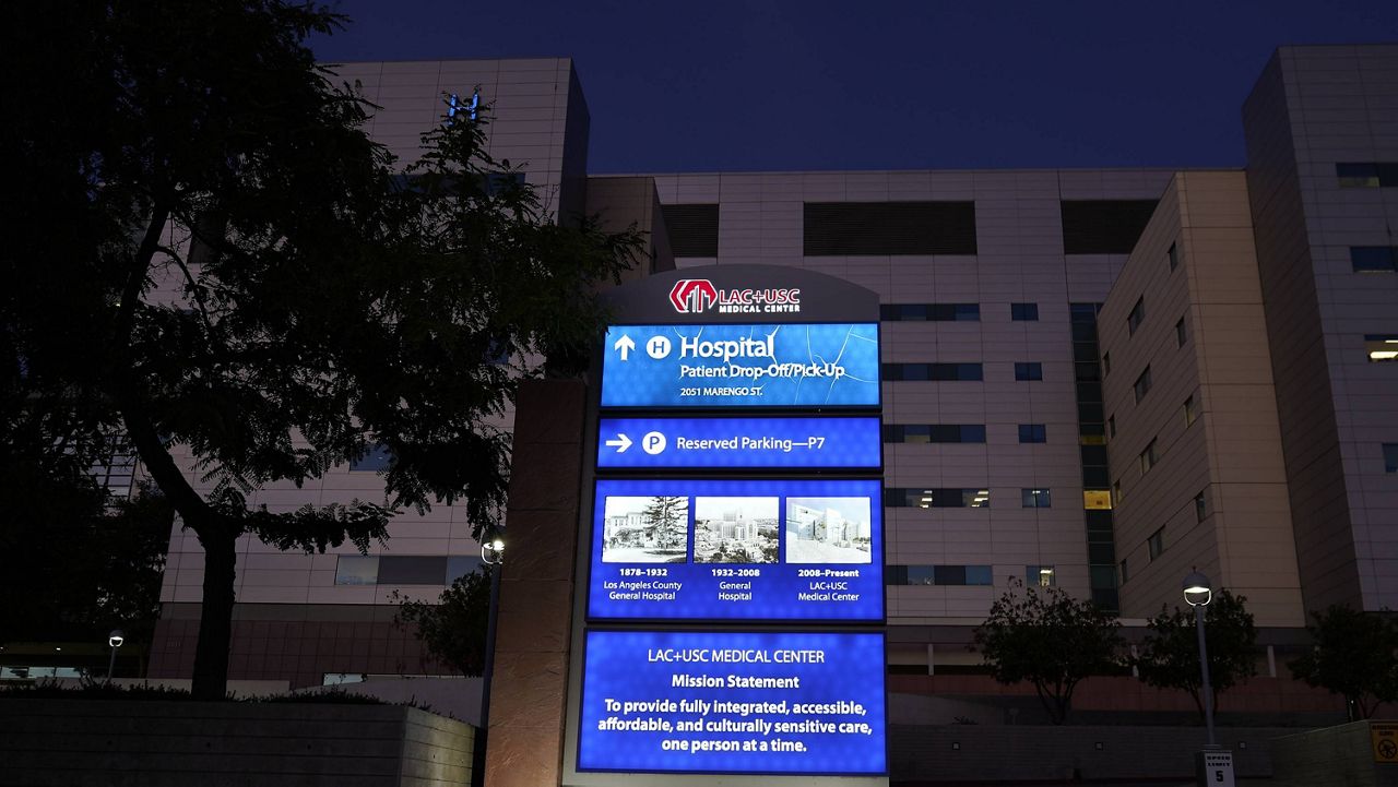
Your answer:
[[[1247,597],[1219,590],[1204,608],[1204,642],[1209,653],[1209,685],[1213,707],[1218,695],[1251,678],[1257,672],[1257,626],[1247,611]],[[1204,717],[1202,672],[1199,670],[1199,637],[1194,609],[1160,614],[1146,622],[1146,639],[1141,654],[1132,661],[1146,685],[1158,689],[1183,689],[1194,698]]]

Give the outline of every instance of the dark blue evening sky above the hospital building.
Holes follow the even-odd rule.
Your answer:
[[[333,4],[323,60],[573,57],[593,173],[1240,165],[1272,49],[1398,41],[1394,0]]]

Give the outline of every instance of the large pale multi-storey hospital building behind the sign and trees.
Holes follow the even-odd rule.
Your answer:
[[[1241,171],[589,176],[566,59],[340,74],[405,158],[478,88],[491,154],[563,221],[649,229],[651,270],[793,266],[879,294],[893,671],[969,667],[1012,582],[1139,619],[1197,566],[1282,629],[1398,607],[1398,46],[1278,50]],[[249,502],[375,499],[375,461]],[[231,677],[443,672],[393,594],[474,568],[461,514],[404,514],[368,556],[245,541]],[[189,674],[200,566],[176,530],[152,677]]]

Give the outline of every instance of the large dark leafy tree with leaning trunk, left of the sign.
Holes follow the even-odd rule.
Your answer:
[[[428,134],[403,176],[305,46],[344,21],[323,7],[6,14],[0,155],[25,198],[0,252],[4,415],[50,445],[131,440],[203,545],[193,693],[221,699],[238,538],[365,551],[396,510],[454,500],[493,530],[509,435],[488,424],[541,373],[517,359],[576,358],[639,239],[551,222],[485,155],[484,117]],[[246,502],[375,446],[383,503]]]

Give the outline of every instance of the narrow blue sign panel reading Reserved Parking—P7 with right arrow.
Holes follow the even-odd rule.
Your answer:
[[[878,418],[603,418],[597,467],[882,465]]]

